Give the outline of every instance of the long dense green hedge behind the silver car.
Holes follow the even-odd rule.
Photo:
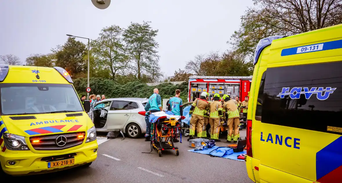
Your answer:
[[[119,97],[138,97],[149,98],[153,94],[153,89],[159,89],[161,98],[170,98],[175,95],[175,90],[181,90],[181,98],[183,102],[187,102],[188,97],[188,83],[173,85],[171,83],[162,83],[157,86],[147,86],[146,83],[140,81],[130,82],[120,85],[113,80],[106,78],[93,77],[89,81],[91,92],[95,95],[106,95],[106,98],[119,98]],[[74,87],[79,96],[87,95],[87,78],[77,78],[74,80]]]

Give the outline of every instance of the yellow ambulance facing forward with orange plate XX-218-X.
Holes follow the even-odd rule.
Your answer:
[[[60,67],[0,64],[0,178],[89,166],[96,132]]]

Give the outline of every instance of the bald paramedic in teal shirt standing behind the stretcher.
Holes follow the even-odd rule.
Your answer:
[[[163,108],[161,107],[161,97],[159,95],[158,88],[153,90],[153,94],[148,99],[148,102],[145,106],[145,122],[146,122],[146,134],[145,134],[145,141],[151,140],[151,123],[148,120],[148,116],[153,112],[162,111]]]

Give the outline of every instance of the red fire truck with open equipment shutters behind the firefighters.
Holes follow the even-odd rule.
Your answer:
[[[216,93],[222,97],[239,96],[244,101],[251,87],[252,76],[190,76],[188,102],[199,98],[203,91],[209,93],[209,99]]]

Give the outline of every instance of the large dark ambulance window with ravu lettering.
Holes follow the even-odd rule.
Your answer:
[[[260,84],[255,119],[342,134],[341,68],[341,61],[268,68]]]

